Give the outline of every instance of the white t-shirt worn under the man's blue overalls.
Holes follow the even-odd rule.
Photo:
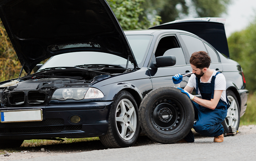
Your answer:
[[[214,70],[214,69],[211,69],[211,70]],[[210,79],[207,82],[202,82],[201,79],[200,79],[200,82],[201,83],[210,83],[212,76],[216,75],[216,73],[217,73],[217,71],[214,70],[213,74],[211,75]],[[194,87],[196,89],[196,86],[197,86],[196,79],[197,79],[196,75],[191,75],[191,77],[188,80],[187,86],[192,87],[192,88]],[[223,90],[222,94],[221,94],[221,100],[227,102],[226,101],[226,79],[225,79],[225,76],[221,73],[216,75],[214,90]],[[199,88],[198,88],[198,94],[201,96]]]

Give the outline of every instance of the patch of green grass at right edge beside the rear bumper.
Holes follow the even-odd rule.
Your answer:
[[[249,94],[245,114],[240,120],[240,126],[251,124],[256,124],[256,92]]]

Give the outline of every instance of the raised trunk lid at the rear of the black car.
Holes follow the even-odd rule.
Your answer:
[[[206,19],[207,21],[200,20]],[[176,29],[184,30],[197,35],[212,45],[217,51],[229,57],[228,41],[225,33],[224,24],[221,22],[209,21],[222,18],[198,18],[198,20],[178,20],[162,25],[150,27],[149,29]]]

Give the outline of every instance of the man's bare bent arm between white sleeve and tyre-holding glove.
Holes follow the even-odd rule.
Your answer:
[[[222,94],[222,90],[214,90],[213,99],[211,99],[210,101],[206,99],[198,98],[196,96],[193,98],[193,101],[208,109],[214,110],[220,100],[221,94]]]

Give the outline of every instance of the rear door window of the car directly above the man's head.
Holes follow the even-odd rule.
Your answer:
[[[202,40],[190,35],[180,34],[180,36],[187,47],[190,57],[195,51],[206,51]]]

